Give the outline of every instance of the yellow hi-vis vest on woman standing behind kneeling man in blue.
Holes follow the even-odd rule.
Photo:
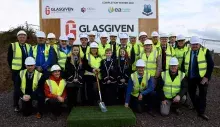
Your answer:
[[[140,59],[144,60],[146,62],[145,70],[150,73],[151,76],[156,75],[157,70],[157,57],[158,52],[156,49],[152,49],[150,55],[147,58],[146,53],[142,52],[140,55]]]

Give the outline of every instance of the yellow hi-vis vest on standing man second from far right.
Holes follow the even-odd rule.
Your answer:
[[[179,61],[179,65],[178,65],[179,69],[181,69],[181,65],[183,62],[183,56],[184,56],[185,52],[187,52],[188,50],[189,50],[188,46],[184,46],[183,48],[177,48],[177,47],[175,48],[176,58]]]

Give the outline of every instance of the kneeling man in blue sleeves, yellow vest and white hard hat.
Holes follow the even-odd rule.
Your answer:
[[[153,79],[150,74],[145,71],[146,63],[139,59],[136,63],[137,71],[131,74],[128,81],[128,88],[125,99],[125,107],[130,107],[138,113],[144,111],[144,106],[147,104],[148,113],[152,113],[152,92],[154,90]]]

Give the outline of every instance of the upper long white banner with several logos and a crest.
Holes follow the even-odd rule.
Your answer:
[[[156,18],[156,0],[42,0],[42,18]]]

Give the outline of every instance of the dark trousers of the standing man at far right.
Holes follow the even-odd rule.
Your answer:
[[[199,114],[204,114],[206,109],[206,95],[208,84],[200,84],[201,78],[189,79],[189,96]],[[196,94],[197,87],[199,88],[199,95]]]

